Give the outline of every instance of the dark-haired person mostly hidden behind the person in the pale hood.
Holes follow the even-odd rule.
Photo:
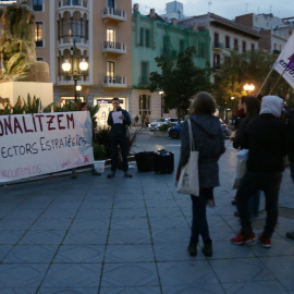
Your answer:
[[[248,149],[248,139],[246,136],[246,130],[249,125],[249,123],[258,117],[260,111],[260,101],[254,97],[254,96],[246,96],[244,98],[244,113],[245,118],[242,120],[238,126],[238,132],[236,133],[236,136],[233,140],[233,147],[235,149]],[[250,215],[253,217],[258,217],[259,215],[259,201],[260,201],[260,192],[256,192],[255,195],[253,195],[250,199]],[[236,217],[238,217],[237,211],[234,213]]]

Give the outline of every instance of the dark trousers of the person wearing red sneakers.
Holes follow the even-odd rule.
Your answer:
[[[248,171],[241,181],[236,194],[236,206],[240,215],[242,233],[253,232],[250,222],[249,200],[259,189],[266,197],[267,219],[262,235],[270,238],[278,221],[279,189],[282,182],[282,172],[250,172]]]

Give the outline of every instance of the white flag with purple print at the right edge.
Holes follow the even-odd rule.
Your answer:
[[[292,33],[273,69],[294,88],[294,33]]]

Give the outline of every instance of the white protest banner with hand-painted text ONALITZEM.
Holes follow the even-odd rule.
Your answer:
[[[0,115],[0,182],[94,162],[88,111]]]

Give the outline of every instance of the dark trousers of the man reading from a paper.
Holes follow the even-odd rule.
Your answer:
[[[118,167],[118,146],[121,148],[123,171],[128,171],[127,155],[126,155],[126,137],[110,136],[110,152],[111,152],[111,171],[115,172]]]

